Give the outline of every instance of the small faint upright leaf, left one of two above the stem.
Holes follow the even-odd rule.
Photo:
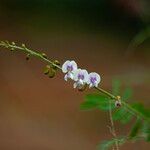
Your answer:
[[[119,95],[120,86],[121,86],[121,83],[119,80],[113,80],[112,82],[112,94],[113,95]]]

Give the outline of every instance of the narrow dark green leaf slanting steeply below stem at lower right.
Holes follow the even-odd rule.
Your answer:
[[[130,140],[134,139],[138,135],[141,127],[142,127],[142,121],[141,121],[141,119],[137,119],[136,123],[134,124],[134,126],[129,134]]]

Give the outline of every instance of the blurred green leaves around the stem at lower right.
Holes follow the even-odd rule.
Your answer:
[[[113,81],[112,93],[114,95],[121,95],[122,103],[125,101],[128,102],[132,98],[131,88],[125,88],[122,94],[120,94],[121,83],[118,80]],[[118,108],[115,106],[114,100],[104,95],[90,94],[86,96],[85,101],[80,105],[80,108],[82,110],[99,109],[104,111],[108,111],[111,108],[113,111],[113,120],[119,121],[122,124],[127,124],[136,120],[135,123],[133,123],[133,127],[131,127],[130,132],[126,136],[101,142],[100,146],[98,146],[101,150],[107,150],[112,147],[115,144],[115,140],[118,141],[119,145],[131,140],[136,141],[139,139],[144,139],[145,141],[150,141],[150,109],[145,108],[139,102],[131,103],[130,109],[124,104]]]

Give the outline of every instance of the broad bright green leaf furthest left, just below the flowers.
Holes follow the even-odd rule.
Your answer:
[[[81,103],[80,109],[82,110],[90,110],[90,109],[101,109],[101,110],[109,110],[110,108],[110,99],[102,96],[102,95],[87,95],[85,101]],[[111,108],[115,108],[115,104],[111,101]]]

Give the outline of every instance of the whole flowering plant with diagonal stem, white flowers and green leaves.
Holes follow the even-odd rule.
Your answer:
[[[128,103],[131,98],[131,89],[126,88],[123,94],[120,94],[120,82],[113,82],[112,94],[99,87],[101,77],[98,73],[88,73],[85,69],[78,68],[74,60],[67,60],[61,66],[57,60],[49,60],[46,54],[33,51],[22,44],[17,46],[14,42],[1,41],[0,46],[11,51],[21,51],[26,54],[26,59],[34,56],[44,61],[47,65],[44,74],[50,78],[54,77],[57,71],[64,73],[64,80],[73,80],[73,87],[79,91],[84,91],[86,88],[95,88],[99,94],[89,94],[85,101],[81,104],[82,110],[100,109],[108,111],[110,125],[108,129],[112,134],[112,139],[101,142],[98,149],[119,150],[120,146],[129,141],[137,141],[144,139],[150,141],[150,109],[146,109],[141,103]],[[116,134],[114,121],[119,121],[122,124],[127,124],[134,121],[133,127],[127,135],[118,136]]]

